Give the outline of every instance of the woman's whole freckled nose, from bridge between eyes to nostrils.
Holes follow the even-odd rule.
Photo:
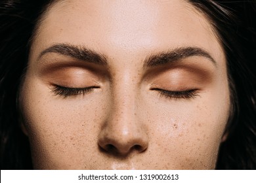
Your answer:
[[[98,144],[108,153],[125,155],[135,149],[142,152],[148,141],[137,118],[137,86],[131,76],[113,80],[110,112],[100,132]]]

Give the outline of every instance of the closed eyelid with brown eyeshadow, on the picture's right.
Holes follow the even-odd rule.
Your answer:
[[[144,74],[144,79],[153,87],[167,90],[169,86],[177,86],[177,89],[182,87],[182,90],[191,89],[191,86],[202,87],[214,81],[215,71],[210,66],[202,64],[201,60],[190,58],[177,65],[150,69]]]

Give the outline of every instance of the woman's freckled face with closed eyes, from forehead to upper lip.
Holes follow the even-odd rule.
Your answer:
[[[20,106],[35,169],[214,169],[224,52],[185,1],[60,1],[33,37]]]

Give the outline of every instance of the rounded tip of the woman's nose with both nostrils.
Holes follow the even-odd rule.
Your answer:
[[[114,156],[127,156],[132,152],[141,153],[148,148],[148,141],[142,134],[104,134],[99,138],[98,145],[104,152]]]

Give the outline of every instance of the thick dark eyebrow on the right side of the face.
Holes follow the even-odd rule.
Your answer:
[[[203,48],[199,47],[179,47],[168,52],[161,52],[160,54],[152,55],[144,61],[143,67],[154,67],[158,65],[165,65],[167,63],[173,63],[184,58],[200,56],[207,58],[215,66],[217,63],[215,59]]]

